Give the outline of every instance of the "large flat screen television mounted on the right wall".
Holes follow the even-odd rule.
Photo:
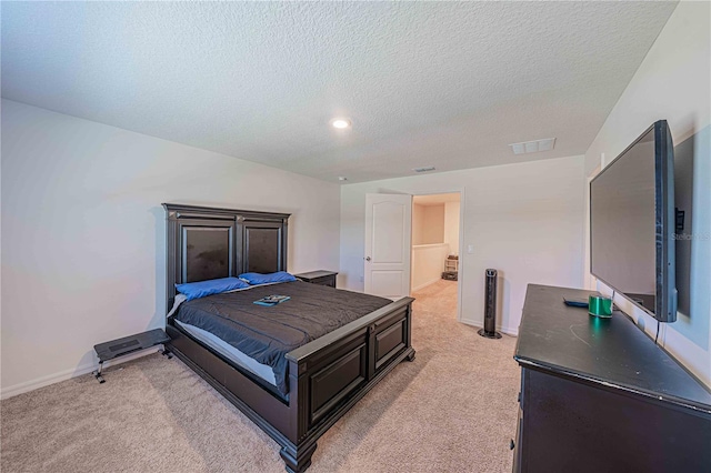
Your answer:
[[[677,320],[673,152],[660,120],[590,182],[590,272],[660,322]]]

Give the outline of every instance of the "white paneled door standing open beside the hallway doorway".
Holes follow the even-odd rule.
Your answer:
[[[365,292],[410,295],[412,195],[365,195]]]

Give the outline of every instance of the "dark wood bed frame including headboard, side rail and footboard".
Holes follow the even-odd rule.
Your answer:
[[[167,310],[173,305],[176,283],[248,271],[286,271],[289,214],[163,207],[168,220]],[[213,251],[226,244],[229,251]],[[311,464],[317,440],[401,361],[414,360],[412,301],[392,302],[287,353],[288,401],[196,341],[172,318],[166,330],[171,338],[169,350],[281,445],[287,471],[303,472]]]

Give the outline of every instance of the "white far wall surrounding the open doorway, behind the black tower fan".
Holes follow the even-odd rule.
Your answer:
[[[341,188],[341,286],[363,289],[367,193],[461,191],[461,320],[483,323],[484,270],[501,275],[500,330],[517,333],[528,283],[581,286],[583,157],[498,165]]]

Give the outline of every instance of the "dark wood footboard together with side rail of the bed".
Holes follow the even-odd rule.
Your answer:
[[[412,361],[412,298],[287,353],[289,401],[169,321],[169,349],[281,446],[287,471],[311,464],[318,439],[403,360]]]

